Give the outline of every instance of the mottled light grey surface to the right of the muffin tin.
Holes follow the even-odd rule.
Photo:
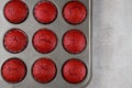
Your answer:
[[[132,87],[132,0],[94,0],[92,61],[87,88]]]

